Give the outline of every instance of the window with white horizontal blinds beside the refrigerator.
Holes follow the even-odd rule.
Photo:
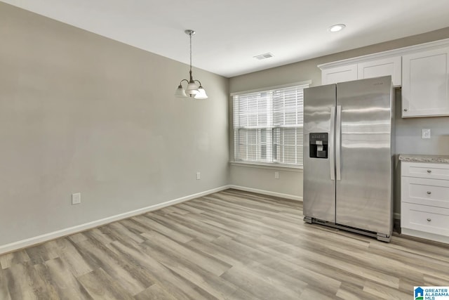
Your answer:
[[[234,160],[302,167],[303,89],[241,93],[234,102]]]

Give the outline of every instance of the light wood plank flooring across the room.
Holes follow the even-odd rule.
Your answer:
[[[237,190],[0,256],[0,299],[412,299],[449,285],[449,247],[302,221]]]

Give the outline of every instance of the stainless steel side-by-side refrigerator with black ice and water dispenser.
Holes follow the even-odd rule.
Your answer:
[[[393,97],[390,76],[304,89],[304,221],[389,242]]]

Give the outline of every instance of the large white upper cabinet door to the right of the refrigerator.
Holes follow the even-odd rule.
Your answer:
[[[449,48],[402,57],[402,117],[449,115]]]

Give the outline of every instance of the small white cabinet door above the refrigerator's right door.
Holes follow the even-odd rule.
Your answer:
[[[359,63],[358,79],[391,75],[394,86],[401,86],[401,56]]]

